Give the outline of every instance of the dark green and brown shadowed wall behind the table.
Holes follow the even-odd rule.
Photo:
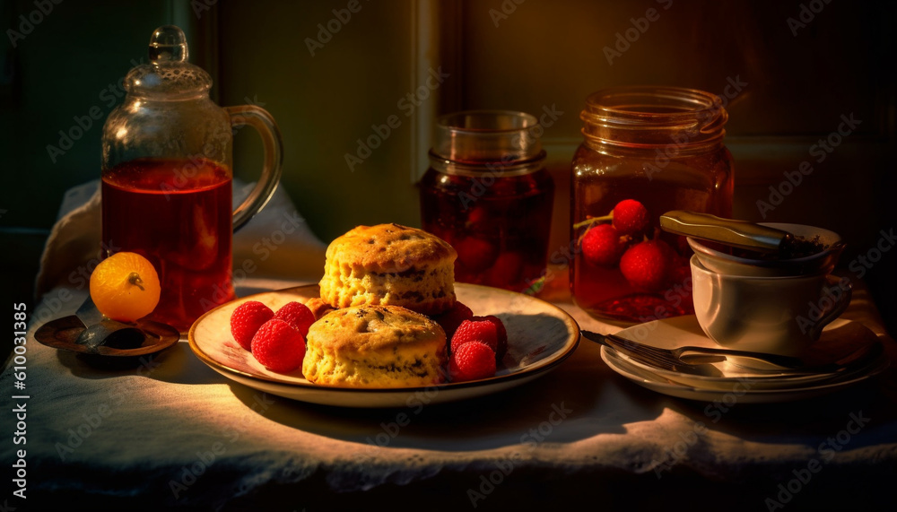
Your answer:
[[[876,246],[893,246],[881,234],[897,227],[893,3],[351,6],[346,19],[348,0],[0,4],[0,262],[9,299],[33,307],[40,249],[65,190],[99,178],[100,133],[121,101],[118,83],[145,61],[152,30],[167,23],[187,31],[191,61],[213,75],[214,100],[252,101],[273,114],[285,145],[282,186],[325,242],[357,224],[419,226],[415,177],[425,170],[428,120],[465,108],[509,108],[562,112],[544,132],[558,191],[551,247],[561,247],[569,239],[570,158],[586,96],[610,85],[669,84],[732,93],[727,145],[736,161],[737,218],[838,231],[849,244],[842,263],[854,262],[854,271],[867,268],[858,258],[875,256]],[[346,21],[334,22],[334,10]],[[338,30],[322,31],[327,27]],[[440,66],[448,78],[426,98],[409,98]],[[91,119],[91,111],[101,117]],[[347,154],[362,154],[358,140],[369,140],[372,126],[390,116],[400,126],[348,165]],[[818,161],[823,153],[814,144],[838,129],[841,116],[861,122]],[[80,135],[69,147],[60,131]],[[238,178],[257,176],[261,151],[251,130],[237,135]],[[788,190],[784,173],[803,161],[814,171],[775,197],[770,187]],[[884,252],[863,275],[892,333],[895,257]]]

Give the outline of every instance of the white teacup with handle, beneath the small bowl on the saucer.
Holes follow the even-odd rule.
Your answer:
[[[712,272],[692,256],[694,314],[704,334],[736,350],[798,355],[848,307],[847,278]]]

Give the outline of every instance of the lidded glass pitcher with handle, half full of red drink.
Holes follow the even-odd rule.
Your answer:
[[[102,134],[103,257],[145,256],[161,280],[153,320],[186,331],[234,298],[231,238],[274,194],[283,151],[274,118],[255,105],[221,108],[212,79],[187,62],[178,27],[152,33],[150,63],[125,78],[124,102]],[[262,176],[231,211],[234,126],[255,127],[265,146]]]

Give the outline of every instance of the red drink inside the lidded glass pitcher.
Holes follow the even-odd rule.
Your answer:
[[[184,332],[234,298],[229,169],[208,160],[127,161],[103,173],[102,201],[104,247],[140,254],[159,273],[153,320]]]

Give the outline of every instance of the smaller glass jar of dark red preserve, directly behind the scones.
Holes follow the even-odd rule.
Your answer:
[[[423,229],[457,250],[455,279],[524,291],[544,273],[554,185],[536,117],[440,117],[421,181]]]

